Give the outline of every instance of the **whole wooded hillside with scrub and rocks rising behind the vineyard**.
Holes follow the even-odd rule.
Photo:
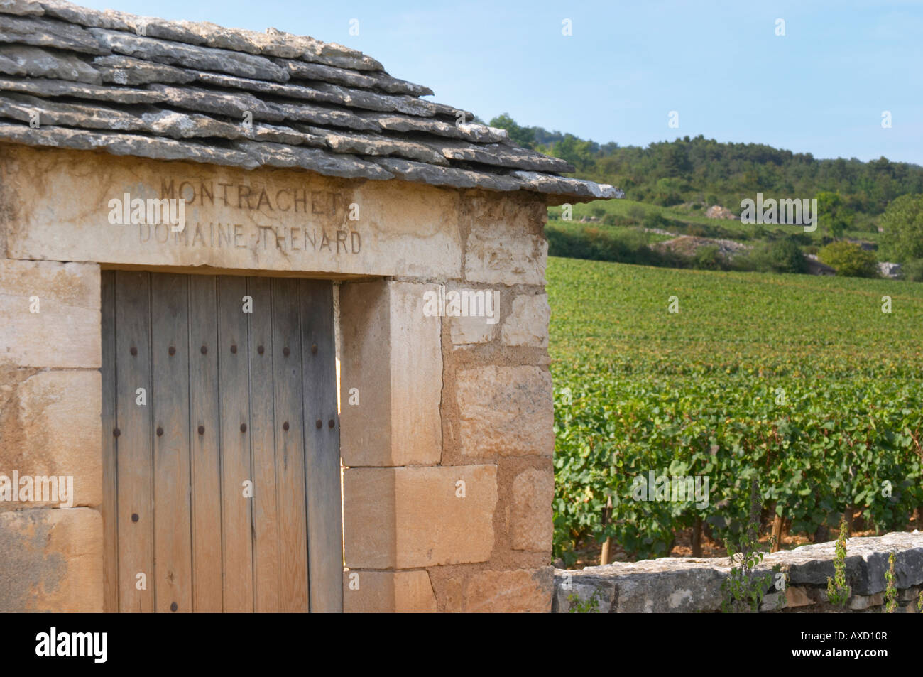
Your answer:
[[[902,196],[923,193],[923,167],[917,164],[886,158],[868,163],[855,158],[819,160],[810,153],[721,143],[701,135],[646,148],[600,145],[542,127],[521,127],[509,115],[495,117],[491,125],[506,128],[512,140],[527,148],[567,160],[576,176],[626,193],[625,199],[573,205],[571,212],[569,205],[549,209],[546,234],[552,255],[672,268],[839,274],[856,267],[833,265],[833,257],[822,248],[847,240],[870,252],[858,255],[869,260],[858,264],[861,274],[923,280],[923,260],[905,269],[877,265],[911,262],[879,245],[881,224],[887,220],[882,214],[889,205]],[[808,231],[796,224],[741,223],[742,200],[755,201],[758,195],[816,200],[817,223]],[[725,218],[710,218],[710,210],[723,212]],[[697,248],[679,254],[686,248],[654,246],[677,236],[699,238]],[[733,240],[745,247],[728,255],[722,243],[701,238]],[[789,243],[778,244],[784,240]],[[806,257],[820,257],[833,268],[805,261]],[[780,260],[783,265],[778,265]]]

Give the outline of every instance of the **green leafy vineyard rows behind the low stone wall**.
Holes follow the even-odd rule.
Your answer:
[[[789,533],[923,511],[921,285],[554,258],[547,281],[566,564],[730,538],[752,478]],[[707,478],[707,501],[654,477]]]

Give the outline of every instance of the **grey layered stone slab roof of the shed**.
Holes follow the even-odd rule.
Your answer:
[[[623,196],[559,176],[573,166],[421,98],[432,93],[366,54],[280,30],[0,0],[0,141],[529,190],[549,203]]]

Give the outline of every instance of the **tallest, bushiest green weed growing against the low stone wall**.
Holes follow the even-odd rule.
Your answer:
[[[735,544],[731,539],[725,539],[727,554],[731,562],[737,562],[731,567],[731,572],[721,582],[721,611],[728,613],[737,611],[741,607],[749,607],[752,612],[759,611],[760,602],[770,586],[773,585],[773,574],[757,575],[753,569],[762,562],[763,553],[758,550],[760,546],[760,487],[756,478],[750,480],[750,507],[747,529],[740,534]],[[779,571],[779,565],[773,567],[773,572]]]

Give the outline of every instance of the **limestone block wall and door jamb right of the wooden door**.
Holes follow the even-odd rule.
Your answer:
[[[340,289],[345,611],[551,608],[545,203],[461,214],[460,279]],[[496,321],[426,314],[453,291],[495,293]]]

